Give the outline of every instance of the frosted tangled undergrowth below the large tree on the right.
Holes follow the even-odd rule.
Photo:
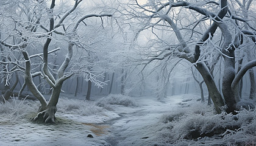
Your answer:
[[[256,142],[256,111],[213,114],[213,107],[192,102],[162,116],[158,145],[248,145]]]

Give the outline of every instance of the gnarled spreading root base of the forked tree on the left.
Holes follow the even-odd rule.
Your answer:
[[[43,122],[45,123],[55,123],[55,113],[57,111],[56,106],[48,106],[44,111],[41,111],[32,120],[36,121],[43,117]]]

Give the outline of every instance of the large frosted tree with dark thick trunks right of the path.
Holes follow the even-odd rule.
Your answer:
[[[255,4],[251,5],[255,7]],[[252,12],[253,9],[249,7],[247,10]],[[204,78],[217,113],[221,113],[225,105],[228,113],[239,108],[236,107],[241,100],[238,83],[248,69],[256,66],[256,60],[249,61],[235,72],[235,50],[244,49],[245,40],[255,44],[253,15],[251,18],[236,15],[236,11],[229,9],[227,0],[132,0],[128,7],[123,5],[120,12],[126,16],[132,29],[139,28],[138,38],[143,32],[151,32],[151,36],[144,39],[148,43],[139,42],[144,53],[141,64],[183,58],[194,65]],[[240,26],[241,23],[247,27]],[[211,74],[211,66],[216,64],[219,54],[220,60],[224,60],[221,91]]]

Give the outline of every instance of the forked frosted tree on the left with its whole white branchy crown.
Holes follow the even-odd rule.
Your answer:
[[[71,60],[75,51],[74,48],[87,51],[84,44],[88,40],[83,37],[85,34],[79,33],[79,30],[87,27],[85,20],[96,18],[100,19],[102,23],[105,20],[103,17],[112,16],[112,12],[90,13],[79,9],[79,4],[83,4],[82,0],[75,0],[71,3],[72,6],[69,7],[55,2],[55,0],[1,1],[0,43],[5,46],[5,51],[1,55],[10,56],[10,60],[1,61],[1,64],[12,64],[13,66],[12,69],[1,73],[7,75],[13,72],[23,73],[24,84],[21,91],[27,86],[41,103],[34,120],[42,117],[44,122],[54,122],[57,111],[56,105],[63,82],[73,75],[84,74],[88,80],[96,85],[102,86],[104,84],[98,80],[101,75],[88,70],[88,66],[85,67],[85,64],[72,64]],[[64,5],[65,7],[63,7]],[[85,6],[86,4],[83,5],[83,7]],[[6,10],[5,7],[12,7],[12,10]],[[49,62],[49,55],[56,51],[65,52],[66,55],[63,58],[58,58],[58,61],[62,63],[58,68],[53,69],[51,62]],[[18,55],[21,57],[19,58]],[[40,58],[41,62],[35,62],[35,57]],[[38,64],[42,64],[41,69],[35,69],[38,68]],[[72,67],[69,68],[70,64]],[[56,74],[56,77],[53,74]],[[32,80],[38,75],[46,80],[52,88],[49,101],[46,101]]]

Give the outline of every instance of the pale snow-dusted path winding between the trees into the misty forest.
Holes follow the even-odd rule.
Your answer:
[[[162,114],[172,111],[180,101],[181,99],[169,97],[159,102],[154,98],[145,97],[137,100],[140,107],[116,106],[115,112],[120,117],[105,123],[110,126],[107,143],[112,146],[140,146],[154,142],[154,133],[151,133],[152,125],[158,124]]]

